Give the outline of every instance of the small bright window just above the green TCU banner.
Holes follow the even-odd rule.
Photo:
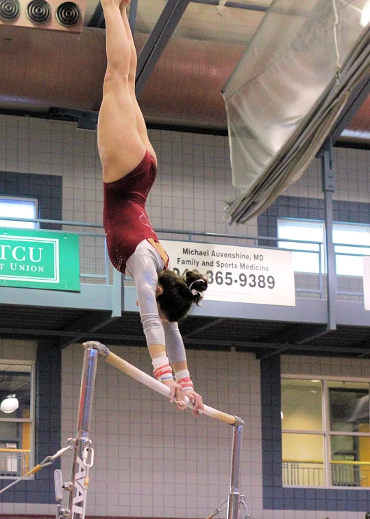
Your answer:
[[[21,197],[0,197],[0,226],[34,229],[36,224],[33,221],[12,221],[1,219],[10,218],[37,218],[37,200],[34,198]]]

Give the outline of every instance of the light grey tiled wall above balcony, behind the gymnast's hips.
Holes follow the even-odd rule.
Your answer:
[[[149,130],[158,177],[147,208],[156,228],[255,234],[223,220],[231,184],[226,137]],[[0,115],[0,170],[63,176],[63,218],[101,223],[103,191],[96,132],[75,123]]]

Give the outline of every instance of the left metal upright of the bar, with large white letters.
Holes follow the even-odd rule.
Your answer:
[[[88,470],[93,466],[93,449],[88,438],[90,418],[93,407],[95,374],[97,371],[98,352],[86,348],[82,368],[81,391],[77,419],[77,436],[72,463],[71,492],[69,494],[69,519],[84,519],[86,494],[88,488]]]

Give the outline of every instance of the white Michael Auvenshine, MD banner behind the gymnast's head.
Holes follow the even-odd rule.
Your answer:
[[[162,240],[178,274],[208,277],[206,300],[295,306],[292,253],[214,243]]]

